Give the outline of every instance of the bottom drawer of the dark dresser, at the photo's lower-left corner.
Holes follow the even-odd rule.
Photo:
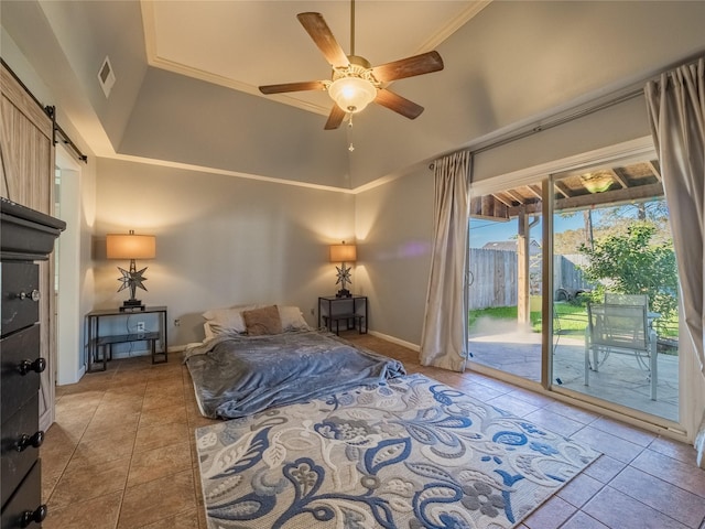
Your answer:
[[[45,517],[46,506],[42,505],[41,461],[37,460],[8,505],[3,507],[0,528],[39,528],[42,527],[42,520]]]

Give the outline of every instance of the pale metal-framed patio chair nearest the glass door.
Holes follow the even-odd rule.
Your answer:
[[[633,355],[650,371],[651,400],[657,400],[657,333],[649,325],[646,304],[587,304],[585,386],[590,370],[597,371],[612,353]]]

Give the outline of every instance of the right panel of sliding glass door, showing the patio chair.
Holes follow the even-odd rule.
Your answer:
[[[553,185],[551,381],[677,422],[677,270],[658,162]]]

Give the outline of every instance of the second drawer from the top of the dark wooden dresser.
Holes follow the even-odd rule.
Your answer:
[[[32,325],[0,341],[0,417],[9,418],[40,390],[40,326]],[[24,365],[24,369],[23,369]],[[45,365],[45,364],[44,364]],[[24,373],[24,375],[23,375]]]

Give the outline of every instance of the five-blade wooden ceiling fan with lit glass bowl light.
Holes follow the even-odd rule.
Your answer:
[[[336,102],[326,121],[326,130],[337,129],[347,114],[359,112],[371,101],[409,119],[417,118],[423,112],[422,106],[387,89],[386,85],[392,80],[443,69],[443,60],[437,52],[422,53],[372,67],[365,57],[355,55],[355,0],[350,2],[350,55],[346,55],[339,46],[321,13],[299,13],[296,18],[333,67],[330,80],[260,86],[262,94],[326,90]]]

